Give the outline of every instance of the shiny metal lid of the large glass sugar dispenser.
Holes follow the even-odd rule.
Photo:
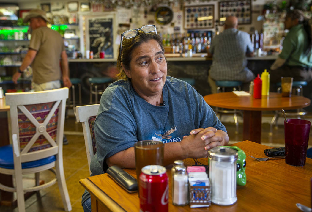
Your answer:
[[[208,158],[210,160],[234,162],[237,160],[237,151],[232,148],[217,146],[208,151]]]

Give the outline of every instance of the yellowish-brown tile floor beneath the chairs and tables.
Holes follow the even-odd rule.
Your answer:
[[[283,119],[279,119],[279,129],[273,131],[273,136],[268,136],[269,122],[273,113],[263,114],[262,118],[262,134],[261,143],[272,147],[280,147],[284,142]],[[306,116],[306,119],[312,121],[312,114]],[[235,134],[235,124],[233,116],[222,116],[222,123],[227,127],[230,143],[242,141],[242,119],[239,120],[239,133]],[[64,171],[66,177],[67,188],[71,199],[72,211],[83,212],[81,207],[81,195],[84,188],[79,184],[79,180],[89,176],[87,165],[87,157],[85,153],[85,143],[82,133],[81,124],[75,124],[74,117],[66,120],[65,134],[69,141],[68,145],[63,148]],[[309,146],[312,147],[312,131],[310,131]],[[41,179],[49,179],[52,177],[49,171],[41,175]],[[32,176],[25,176],[32,178]],[[27,179],[26,179],[27,181]],[[39,191],[25,201],[27,212],[61,212],[64,211],[57,184]],[[0,206],[1,212],[17,212],[17,208],[9,206]]]

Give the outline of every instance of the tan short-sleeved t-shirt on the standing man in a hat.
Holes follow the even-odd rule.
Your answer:
[[[60,57],[65,50],[60,33],[48,27],[39,27],[32,32],[29,49],[37,51],[32,62],[32,80],[41,84],[61,79]]]

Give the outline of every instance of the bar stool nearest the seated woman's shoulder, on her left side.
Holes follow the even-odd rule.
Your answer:
[[[106,87],[112,82],[112,79],[110,77],[93,77],[89,78],[88,81],[90,84],[90,105],[98,104],[98,95],[102,95]],[[99,90],[99,86],[103,86],[103,88]],[[92,95],[95,95],[95,103],[92,103]]]

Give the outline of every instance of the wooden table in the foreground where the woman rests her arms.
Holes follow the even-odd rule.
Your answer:
[[[245,186],[237,186],[237,202],[230,206],[212,204],[208,209],[190,208],[189,205],[177,207],[172,205],[171,180],[169,180],[169,212],[175,211],[210,211],[210,212],[263,212],[263,211],[299,211],[296,203],[310,206],[310,178],[312,176],[312,159],[307,158],[305,166],[291,166],[285,159],[258,161],[251,158],[265,157],[268,146],[251,141],[242,141],[233,145],[246,153]],[[184,160],[185,165],[193,165],[193,159]],[[207,158],[198,159],[208,165]],[[126,169],[136,178],[134,169]],[[167,174],[171,176],[170,170]],[[127,193],[107,174],[95,175],[82,179],[80,184],[91,194],[92,211],[139,211],[138,193]]]

